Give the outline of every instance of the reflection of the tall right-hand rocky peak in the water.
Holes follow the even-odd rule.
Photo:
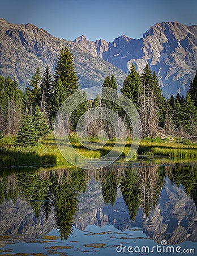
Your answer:
[[[197,241],[197,212],[194,201],[183,187],[166,180],[161,198],[143,224],[144,233],[155,242],[165,239],[170,244]]]

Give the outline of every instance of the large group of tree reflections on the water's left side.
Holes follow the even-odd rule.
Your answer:
[[[41,171],[0,176],[0,203],[18,196],[28,201],[36,217],[43,212],[46,220],[54,210],[56,226],[61,238],[72,232],[72,221],[78,196],[85,191],[84,171],[80,169]]]

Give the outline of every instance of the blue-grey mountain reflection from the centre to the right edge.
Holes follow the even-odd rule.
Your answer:
[[[75,217],[75,226],[84,230],[88,225],[104,226],[112,224],[123,231],[134,226],[143,228],[143,232],[155,242],[162,239],[170,244],[183,241],[197,241],[197,212],[194,201],[186,195],[182,186],[171,185],[166,179],[165,187],[160,194],[159,202],[148,217],[138,210],[135,221],[131,222],[130,214],[122,196],[118,195],[112,207],[104,205],[99,193],[98,183],[90,183],[79,204],[79,212]],[[93,189],[96,188],[97,189]],[[119,193],[118,193],[119,194]],[[88,200],[87,200],[88,199]],[[104,206],[102,206],[104,205]]]

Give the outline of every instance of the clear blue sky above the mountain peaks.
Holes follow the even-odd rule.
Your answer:
[[[197,24],[196,0],[1,0],[0,17],[32,23],[58,38],[113,42],[124,34],[142,38],[157,22]]]

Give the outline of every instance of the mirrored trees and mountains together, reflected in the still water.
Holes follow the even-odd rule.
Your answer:
[[[197,241],[195,164],[3,171],[0,181],[2,236],[57,228],[66,240],[74,226],[112,224],[122,231],[138,226],[157,243]]]

